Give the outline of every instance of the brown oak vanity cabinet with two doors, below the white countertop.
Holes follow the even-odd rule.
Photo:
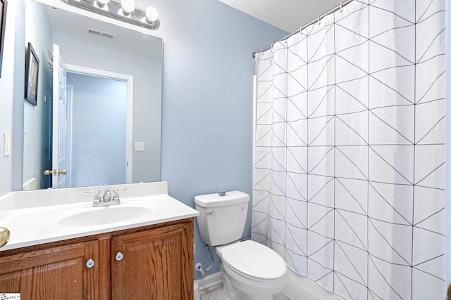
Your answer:
[[[0,252],[0,293],[20,292],[23,300],[193,299],[193,222]]]

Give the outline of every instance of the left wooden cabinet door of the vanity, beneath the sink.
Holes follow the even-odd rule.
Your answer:
[[[0,292],[22,300],[98,299],[98,242],[82,242],[1,256]],[[94,261],[87,268],[88,259]]]

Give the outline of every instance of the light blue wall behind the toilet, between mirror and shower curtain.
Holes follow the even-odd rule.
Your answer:
[[[217,0],[152,5],[163,38],[161,180],[169,195],[191,207],[195,195],[218,190],[251,194],[251,55],[286,32]],[[244,237],[250,237],[250,216],[249,206]],[[197,223],[194,230],[194,263],[206,268],[211,259]],[[218,272],[216,254],[215,261],[207,275]]]

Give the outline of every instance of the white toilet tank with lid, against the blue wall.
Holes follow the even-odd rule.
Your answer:
[[[234,190],[194,197],[197,225],[205,244],[218,246],[239,240],[245,230],[249,195]]]

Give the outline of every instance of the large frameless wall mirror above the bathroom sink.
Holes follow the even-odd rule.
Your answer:
[[[24,100],[23,190],[50,188],[56,178],[61,187],[160,181],[163,41],[27,0],[28,43],[39,76],[37,103]],[[61,60],[66,109],[55,112]],[[58,138],[54,119],[63,119]],[[51,162],[62,148],[64,169]]]

